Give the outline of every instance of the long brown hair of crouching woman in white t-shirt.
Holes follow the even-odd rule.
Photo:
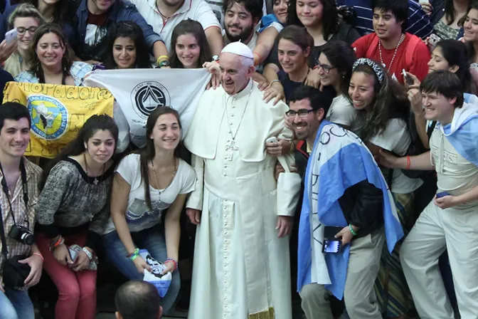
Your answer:
[[[141,179],[144,182],[144,199],[146,200],[146,204],[148,208],[153,211],[153,206],[151,204],[151,194],[149,193],[149,169],[148,169],[148,162],[154,159],[154,155],[156,155],[156,150],[154,149],[154,141],[150,138],[154,125],[156,125],[156,121],[161,115],[165,114],[172,114],[178,120],[179,129],[182,130],[181,120],[179,118],[178,111],[174,110],[174,108],[170,108],[169,106],[159,106],[154,110],[148,117],[146,122],[146,146],[139,150],[139,163],[141,166]],[[180,157],[182,148],[182,142],[179,142],[179,145],[174,150],[174,158]]]

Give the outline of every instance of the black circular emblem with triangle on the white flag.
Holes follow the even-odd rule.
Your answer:
[[[134,111],[144,119],[159,106],[170,106],[171,98],[164,85],[156,81],[139,83],[131,92]]]

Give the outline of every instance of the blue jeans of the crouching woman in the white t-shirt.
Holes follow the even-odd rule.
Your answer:
[[[164,233],[159,231],[159,226],[132,232],[131,237],[134,246],[137,246],[139,249],[147,249],[157,261],[164,261],[168,258],[166,254],[166,240],[164,239]],[[121,239],[119,239],[117,231],[112,231],[103,236],[103,246],[105,246],[107,257],[124,276],[129,280],[143,280],[143,275],[138,273],[134,263],[127,258],[128,253]],[[178,296],[179,288],[181,288],[181,278],[179,277],[179,271],[176,270],[173,273],[168,292],[161,300],[164,313],[168,313],[168,310],[173,306]]]

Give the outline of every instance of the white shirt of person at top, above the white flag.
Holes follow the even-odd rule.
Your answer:
[[[204,0],[186,0],[176,13],[168,20],[163,20],[156,7],[156,0],[129,0],[134,4],[139,14],[146,22],[153,27],[154,32],[158,33],[164,41],[168,52],[171,54],[171,36],[174,28],[179,22],[192,19],[201,23],[203,29],[216,26],[221,29],[216,14],[211,6]]]

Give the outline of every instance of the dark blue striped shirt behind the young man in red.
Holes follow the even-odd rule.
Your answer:
[[[354,27],[362,35],[373,33],[372,19],[372,1],[371,0],[337,0],[337,6],[354,6],[357,13]],[[433,25],[430,23],[422,6],[413,0],[408,0],[408,33],[415,34],[419,38],[430,36],[433,31]]]

